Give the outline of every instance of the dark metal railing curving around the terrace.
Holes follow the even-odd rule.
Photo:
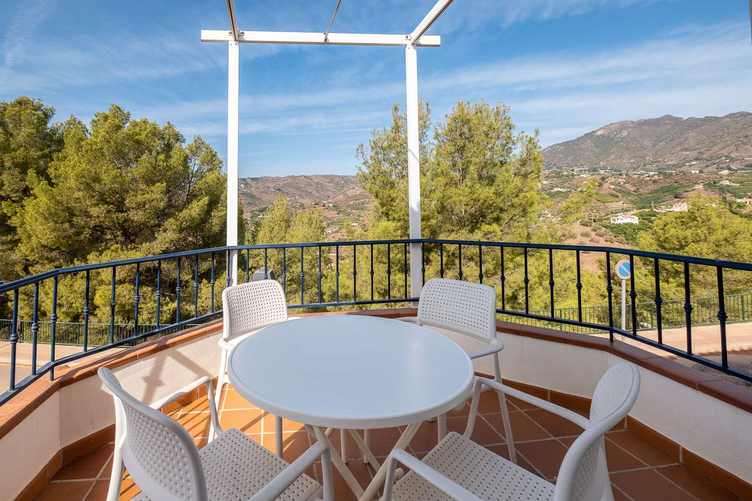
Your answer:
[[[420,277],[411,273],[411,250],[414,256],[420,254],[420,266],[412,268]],[[600,256],[597,273],[582,262],[584,255],[593,254]],[[752,264],[604,246],[368,240],[217,247],[66,267],[0,283],[0,311],[10,316],[9,325],[0,324],[10,365],[8,389],[0,403],[47,373],[52,379],[62,364],[217,317],[222,312],[217,282],[231,282],[235,255],[240,281],[248,281],[253,270],[263,270],[264,276],[269,270],[281,273],[290,309],[397,306],[417,301],[411,297],[410,282],[437,276],[466,279],[496,288],[497,312],[504,318],[605,332],[611,341],[614,336],[627,337],[752,381],[752,374],[729,366],[726,343],[726,324],[738,321],[738,311],[741,318],[749,316],[749,298],[737,289],[748,286],[749,276],[741,275],[752,271]],[[628,259],[632,268],[626,328],[618,327],[620,300],[614,304],[620,285],[611,266],[619,257]],[[592,259],[587,266],[593,268]],[[693,299],[693,283],[702,291],[714,288],[717,294]],[[186,288],[193,294],[186,295]],[[648,294],[650,300],[638,301],[640,294]],[[606,306],[583,305],[588,296]],[[654,337],[643,335],[648,330],[647,305]],[[693,352],[693,325],[711,323],[708,308],[714,309],[719,326],[720,361]],[[677,326],[686,330],[685,346],[663,340],[663,330]],[[31,344],[29,360],[23,361],[30,373],[20,380],[19,343]],[[60,344],[81,349],[56,358],[55,346]],[[38,348],[43,345],[49,357],[42,363]]]

